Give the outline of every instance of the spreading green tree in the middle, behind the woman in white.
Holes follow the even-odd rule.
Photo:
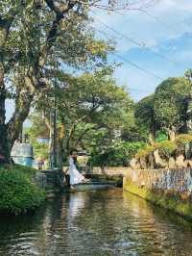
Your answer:
[[[50,110],[57,98],[60,158],[72,149],[105,148],[121,133],[132,115],[132,99],[116,85],[111,67],[79,77],[59,75],[49,98],[38,100],[38,112]],[[65,82],[65,87],[60,85]],[[47,113],[49,116],[49,113]]]

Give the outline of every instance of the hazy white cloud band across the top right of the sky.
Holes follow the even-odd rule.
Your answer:
[[[147,47],[159,45],[162,41],[180,38],[184,33],[192,32],[192,1],[189,0],[161,0],[152,7],[146,8],[147,13],[138,11],[124,11],[94,13],[95,28],[103,30],[111,37],[118,39],[117,49],[128,51],[138,47],[128,38],[117,35],[108,29],[105,23],[113,30],[132,38]],[[94,11],[95,12],[95,11]]]

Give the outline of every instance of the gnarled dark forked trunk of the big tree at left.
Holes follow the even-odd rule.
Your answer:
[[[47,61],[48,53],[57,39],[58,28],[60,21],[65,17],[64,14],[68,13],[76,5],[76,2],[69,1],[64,10],[55,6],[55,1],[46,1],[47,6],[52,12],[56,14],[56,18],[52,22],[51,29],[47,33],[47,38],[44,47],[37,54],[35,59],[35,66],[31,66],[29,70],[31,77],[25,77],[25,81],[22,81],[24,85],[17,94],[15,113],[12,115],[8,124],[5,123],[6,111],[6,89],[4,84],[4,46],[5,41],[9,35],[9,31],[12,25],[13,19],[19,13],[19,9],[15,11],[15,8],[11,8],[8,14],[8,18],[0,17],[0,163],[9,163],[12,145],[15,140],[18,139],[19,131],[22,124],[30,112],[31,103],[34,99],[35,88],[37,90],[37,77],[38,73]],[[22,6],[22,4],[21,4]]]

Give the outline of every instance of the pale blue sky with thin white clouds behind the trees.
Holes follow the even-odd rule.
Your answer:
[[[192,0],[130,2],[132,9],[142,8],[142,12],[92,9],[91,16],[97,37],[115,40],[116,52],[108,61],[121,63],[114,74],[117,84],[126,86],[138,101],[164,79],[182,76],[192,67]],[[13,112],[10,101],[6,109],[9,119]]]

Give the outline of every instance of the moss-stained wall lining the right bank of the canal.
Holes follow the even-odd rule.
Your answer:
[[[128,169],[123,187],[192,219],[192,169]]]

